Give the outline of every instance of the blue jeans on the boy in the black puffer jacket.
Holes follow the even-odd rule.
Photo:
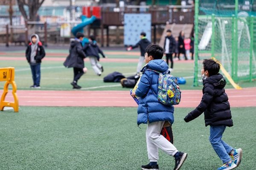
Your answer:
[[[224,164],[231,161],[229,153],[233,150],[233,147],[230,147],[221,139],[225,129],[226,126],[210,126],[209,136],[213,149]]]

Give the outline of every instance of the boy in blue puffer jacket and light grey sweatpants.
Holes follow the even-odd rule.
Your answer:
[[[164,49],[159,45],[148,45],[145,50],[145,62],[140,83],[137,90],[131,95],[140,97],[138,106],[137,124],[148,124],[146,130],[146,143],[149,164],[142,165],[142,170],[159,170],[158,148],[175,157],[175,168],[179,170],[186,159],[187,153],[179,152],[176,147],[164,136],[160,135],[165,122],[174,122],[174,107],[161,104],[157,99],[158,74],[154,71],[166,72],[169,66],[162,60]],[[151,71],[151,70],[154,71]]]

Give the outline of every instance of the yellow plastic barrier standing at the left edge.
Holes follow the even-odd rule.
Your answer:
[[[17,85],[14,81],[15,71],[13,67],[0,68],[0,81],[6,81],[3,86],[3,94],[0,100],[0,111],[3,111],[3,108],[8,106],[12,107],[15,112],[19,111],[19,101],[16,94]],[[8,86],[12,85],[12,96],[14,98],[14,102],[5,101],[6,95],[8,93]]]

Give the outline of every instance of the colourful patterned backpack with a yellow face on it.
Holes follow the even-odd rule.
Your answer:
[[[159,74],[157,90],[157,99],[159,102],[163,105],[178,105],[180,103],[181,91],[177,77],[172,76],[169,71],[163,74],[159,71],[147,70]]]

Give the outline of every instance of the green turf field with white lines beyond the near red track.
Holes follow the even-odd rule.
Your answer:
[[[108,58],[128,58],[128,59],[138,59],[137,55],[126,54],[125,51],[105,51],[105,52],[115,52],[114,54],[107,55]],[[118,54],[118,52],[120,54]],[[24,51],[11,51],[6,52],[6,54],[0,54],[4,57],[24,57]],[[61,54],[60,58],[65,58],[68,55],[68,49],[66,50],[52,50],[46,49],[46,58],[56,57],[54,54]],[[63,54],[63,56],[62,56]],[[165,59],[165,57],[163,57]],[[84,88],[84,90],[90,89],[92,87],[99,87],[90,90],[127,90],[127,88],[122,88],[120,83],[104,83],[103,77],[112,73],[113,71],[119,71],[125,76],[133,75],[136,71],[136,62],[101,62],[104,66],[104,72],[101,77],[96,76],[93,72],[90,63],[85,62],[85,66],[88,68],[88,73],[84,74],[79,80],[79,85]],[[29,89],[32,85],[32,75],[30,71],[29,64],[24,61],[0,61],[0,68],[2,67],[15,67],[15,81],[17,83],[18,89]],[[194,74],[194,64],[193,63],[174,63],[174,71],[172,74],[176,77],[185,77],[186,84],[180,85],[181,89],[201,89],[202,87],[193,87],[193,74]],[[41,89],[42,90],[71,90],[72,86],[70,82],[73,79],[73,69],[64,68],[62,61],[44,61],[41,64]],[[114,87],[108,87],[109,85],[116,85]],[[239,82],[241,87],[253,87],[256,85],[255,82]],[[104,87],[102,87],[104,86]],[[0,88],[3,88],[3,82],[0,82]],[[233,88],[231,85],[227,85],[226,88]]]

